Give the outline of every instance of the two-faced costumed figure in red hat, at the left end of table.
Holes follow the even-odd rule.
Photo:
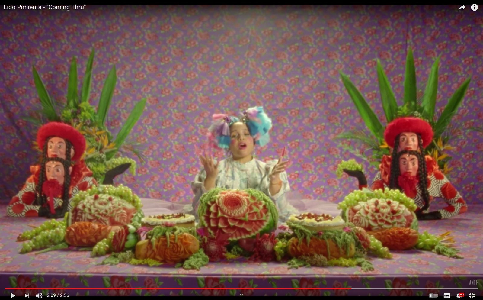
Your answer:
[[[42,163],[30,167],[31,176],[7,206],[8,216],[63,217],[70,199],[97,182],[82,160],[84,136],[68,124],[50,122],[37,132]]]

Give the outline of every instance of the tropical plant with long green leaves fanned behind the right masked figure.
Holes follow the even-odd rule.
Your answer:
[[[400,106],[398,106],[394,92],[379,59],[377,60],[377,76],[381,102],[387,123],[402,116],[415,116],[426,120],[434,130],[434,138],[433,142],[426,147],[425,154],[434,157],[440,169],[448,173],[451,171],[451,168],[448,168],[448,162],[452,157],[447,150],[453,149],[450,146],[450,142],[462,136],[462,130],[458,129],[459,126],[452,123],[452,118],[463,100],[471,76],[456,89],[442,112],[435,112],[439,62],[440,58],[438,57],[431,68],[423,96],[418,99],[414,58],[412,56],[412,50],[409,49],[406,57],[404,104]],[[344,147],[351,150],[356,156],[368,160],[371,165],[378,166],[382,156],[390,154],[390,149],[384,142],[384,127],[361,92],[343,72],[341,72],[341,79],[357,111],[372,135],[369,136],[364,130],[351,130],[342,132],[338,138],[359,141],[359,144],[362,144],[362,150],[347,145]],[[366,155],[367,150],[371,151],[369,155]]]

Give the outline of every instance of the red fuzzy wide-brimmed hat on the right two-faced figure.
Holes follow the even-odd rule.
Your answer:
[[[401,132],[414,132],[421,135],[423,139],[423,148],[426,148],[433,141],[433,129],[428,122],[415,117],[404,117],[394,119],[389,123],[384,131],[384,140],[389,147],[394,148],[396,137]]]

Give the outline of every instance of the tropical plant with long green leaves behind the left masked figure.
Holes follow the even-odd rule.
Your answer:
[[[72,57],[65,104],[58,103],[49,96],[41,76],[32,66],[34,83],[42,104],[42,110],[31,112],[26,119],[39,126],[46,121],[61,121],[78,129],[86,140],[85,162],[94,173],[94,177],[101,183],[104,181],[106,174],[112,177],[112,170],[120,165],[123,165],[123,167],[115,169],[116,171],[123,172],[129,168],[131,173],[135,173],[136,161],[128,157],[121,157],[121,152],[134,153],[141,162],[144,161],[144,157],[139,151],[140,145],[130,143],[126,139],[141,117],[146,99],[142,99],[134,105],[128,119],[114,138],[106,127],[106,120],[117,81],[116,69],[115,66],[112,67],[104,82],[96,110],[94,106],[89,104],[93,62],[94,49],[92,49],[87,60],[84,82],[79,96],[77,62],[75,57]],[[112,181],[112,178],[110,180]]]

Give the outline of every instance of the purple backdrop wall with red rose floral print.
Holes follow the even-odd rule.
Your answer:
[[[483,118],[483,14],[459,5],[435,6],[91,6],[71,11],[1,12],[0,198],[8,201],[35,161],[34,126],[22,119],[40,108],[32,65],[51,96],[65,101],[72,56],[79,82],[91,47],[96,57],[91,104],[108,71],[118,83],[109,113],[115,134],[134,103],[147,106],[132,138],[144,145],[136,176],[116,182],[141,197],[190,201],[199,170],[195,145],[215,112],[263,105],[273,119],[272,141],[257,157],[288,146],[288,172],[302,197],[339,201],[356,188],[338,179],[341,159],[354,158],[334,136],[364,128],[343,87],[348,74],[385,124],[375,72],[380,58],[398,99],[405,57],[414,51],[422,91],[441,56],[437,108],[472,75],[455,120],[462,128]],[[454,143],[450,177],[469,203],[483,199],[482,134]],[[360,160],[359,160],[360,161]],[[362,162],[362,161],[361,161]],[[374,168],[364,162],[368,177]]]

